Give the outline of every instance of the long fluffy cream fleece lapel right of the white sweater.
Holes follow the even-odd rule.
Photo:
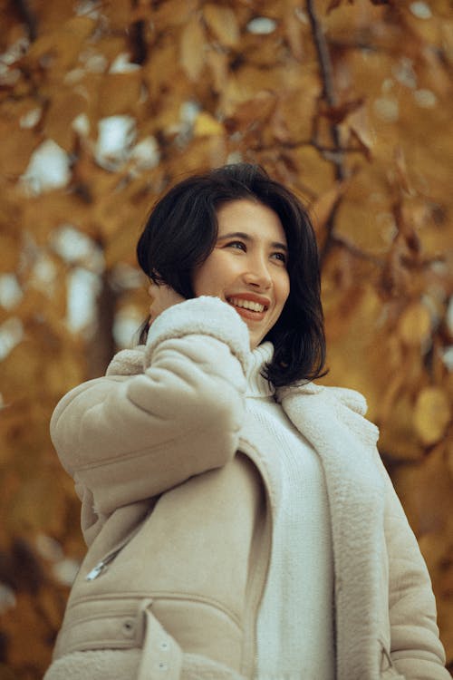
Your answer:
[[[318,452],[328,490],[335,569],[338,677],[378,677],[384,481],[378,428],[353,390],[313,383],[280,391],[284,412]],[[366,578],[364,578],[366,575]],[[363,618],[363,612],[368,617]]]

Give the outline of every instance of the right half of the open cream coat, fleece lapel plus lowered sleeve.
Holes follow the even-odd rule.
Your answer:
[[[305,385],[286,390],[281,403],[321,456],[329,490],[337,677],[381,677],[390,658],[390,677],[398,671],[410,680],[447,680],[428,570],[377,452],[378,428],[361,416],[363,397]],[[383,551],[390,561],[384,570]]]

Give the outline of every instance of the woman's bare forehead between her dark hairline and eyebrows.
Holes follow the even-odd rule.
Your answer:
[[[286,235],[276,212],[263,203],[237,199],[217,209],[218,236],[242,231],[253,238],[266,238],[286,244]]]

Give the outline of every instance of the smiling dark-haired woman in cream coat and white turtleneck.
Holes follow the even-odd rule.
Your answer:
[[[159,201],[143,344],[68,393],[53,442],[88,553],[46,680],[446,680],[427,568],[360,394],[313,384],[313,228],[263,170]]]

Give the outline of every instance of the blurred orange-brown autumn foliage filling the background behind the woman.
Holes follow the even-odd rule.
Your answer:
[[[361,390],[453,659],[449,0],[0,0],[0,678],[49,663],[83,546],[48,435],[131,342],[159,192],[262,163],[316,219],[331,373]]]

